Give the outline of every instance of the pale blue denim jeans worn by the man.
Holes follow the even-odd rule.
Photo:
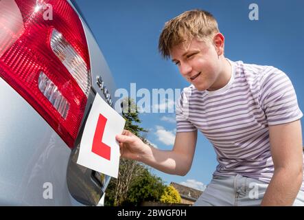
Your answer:
[[[260,206],[268,184],[235,175],[213,176],[194,206]],[[304,191],[299,191],[293,206],[304,206]]]

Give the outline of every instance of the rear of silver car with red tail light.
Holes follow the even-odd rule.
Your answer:
[[[0,0],[0,205],[102,205],[110,177],[76,164],[96,93],[115,84],[73,1]]]

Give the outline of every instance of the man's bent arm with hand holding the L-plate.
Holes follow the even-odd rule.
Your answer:
[[[121,157],[136,159],[164,173],[186,175],[194,158],[197,131],[176,133],[172,151],[148,146],[130,131],[117,135],[116,139],[120,142]]]

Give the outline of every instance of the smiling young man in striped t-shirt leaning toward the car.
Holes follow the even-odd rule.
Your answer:
[[[186,175],[199,130],[219,164],[196,206],[304,206],[303,113],[288,76],[226,59],[218,23],[202,10],[165,23],[159,50],[191,83],[176,107],[174,147],[161,151],[124,131],[121,157]]]

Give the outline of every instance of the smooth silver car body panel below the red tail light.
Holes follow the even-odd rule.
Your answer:
[[[71,149],[2,78],[0,103],[0,205],[70,206]]]

